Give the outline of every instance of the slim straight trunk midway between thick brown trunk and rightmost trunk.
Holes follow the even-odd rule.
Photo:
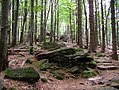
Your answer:
[[[101,0],[101,14],[102,14],[102,50],[101,52],[105,52],[105,30],[104,30],[104,15],[103,15],[103,1]]]

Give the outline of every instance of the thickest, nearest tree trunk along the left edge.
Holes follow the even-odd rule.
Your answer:
[[[1,23],[1,38],[0,38],[0,72],[8,67],[7,55],[7,31],[8,26],[8,11],[9,0],[2,0],[2,23]]]

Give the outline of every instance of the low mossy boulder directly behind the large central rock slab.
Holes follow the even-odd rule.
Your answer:
[[[58,44],[56,42],[45,42],[41,45],[42,49],[49,50],[49,51],[59,49],[61,47],[65,47],[65,45]]]

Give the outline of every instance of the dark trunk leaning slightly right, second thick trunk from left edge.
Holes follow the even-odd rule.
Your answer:
[[[14,23],[12,46],[15,46],[17,44],[18,12],[19,12],[19,0],[16,0],[15,23]]]

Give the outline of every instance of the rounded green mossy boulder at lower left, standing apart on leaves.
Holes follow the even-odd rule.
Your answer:
[[[35,83],[36,81],[39,80],[40,75],[32,67],[17,68],[17,69],[8,68],[5,71],[5,78]]]

